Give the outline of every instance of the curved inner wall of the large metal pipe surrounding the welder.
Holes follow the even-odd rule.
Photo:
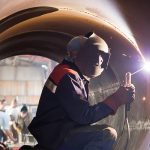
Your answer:
[[[10,19],[10,21],[12,20],[13,18]],[[102,36],[111,48],[112,56],[108,70],[101,77],[91,81],[91,104],[101,101],[113,93],[119,84],[123,82],[125,73],[128,71],[134,72],[138,69],[142,60],[134,44],[117,28],[96,16],[84,12],[57,10],[42,16],[25,18],[25,20],[7,27],[8,29],[3,28],[0,35],[0,59],[20,54],[31,54],[48,57],[60,62],[66,54],[65,46],[71,37],[89,31],[94,31]],[[139,73],[133,78],[133,83],[137,92],[136,101],[129,113],[129,123],[133,129],[131,130],[129,150],[137,150],[139,144],[143,142],[147,130],[143,132],[143,130],[136,127],[139,121],[143,123],[145,121],[143,118],[148,118],[149,115],[146,107],[149,102],[141,101],[142,96],[147,96],[145,75]],[[115,116],[108,117],[99,121],[99,123],[111,124],[118,133],[121,133],[123,125],[122,108],[118,110]],[[125,141],[126,134],[119,141],[118,150],[123,150]]]

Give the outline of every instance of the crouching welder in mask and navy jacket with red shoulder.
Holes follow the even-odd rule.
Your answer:
[[[68,43],[71,58],[55,67],[43,88],[36,117],[29,126],[43,150],[111,150],[116,131],[93,123],[114,114],[134,99],[134,87],[90,106],[88,83],[107,68],[110,52],[95,33]]]

